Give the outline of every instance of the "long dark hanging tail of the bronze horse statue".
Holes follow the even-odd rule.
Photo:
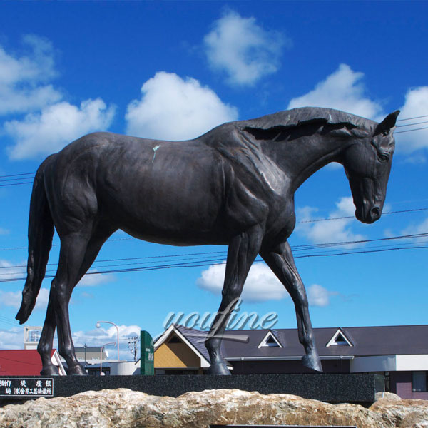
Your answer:
[[[49,156],[51,158],[51,156]],[[39,166],[34,178],[30,201],[29,215],[29,258],[27,261],[27,277],[22,291],[22,302],[16,320],[24,324],[29,319],[36,305],[41,281],[46,273],[49,251],[54,236],[54,220],[52,219],[49,201],[46,197],[44,170],[49,158]]]

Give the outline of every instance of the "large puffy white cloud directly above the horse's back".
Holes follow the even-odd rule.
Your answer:
[[[223,103],[194,78],[161,71],[141,88],[126,112],[127,133],[145,138],[185,140],[238,118],[235,107]]]

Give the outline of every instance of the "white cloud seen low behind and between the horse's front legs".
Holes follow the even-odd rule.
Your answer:
[[[216,295],[221,293],[225,279],[225,265],[212,265],[204,270],[196,284]],[[285,287],[264,263],[254,263],[245,281],[242,299],[245,302],[265,302],[287,297]]]

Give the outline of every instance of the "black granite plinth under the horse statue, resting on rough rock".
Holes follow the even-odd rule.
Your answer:
[[[204,389],[242,389],[261,394],[294,394],[323,402],[372,404],[376,392],[384,391],[379,374],[237,374],[234,376],[58,376],[54,397],[84,391],[128,388],[152,395],[178,397]],[[0,397],[0,401],[4,397]],[[28,397],[22,397],[28,399]]]

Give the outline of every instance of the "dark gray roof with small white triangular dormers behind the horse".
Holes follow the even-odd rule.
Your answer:
[[[175,327],[187,340],[208,360],[208,352],[204,345],[207,332],[190,329],[181,325]],[[353,346],[332,345],[327,343],[340,328]],[[237,357],[300,357],[304,354],[298,340],[297,329],[270,330],[282,347],[260,347],[263,337],[269,330],[228,330],[228,335],[248,335],[248,342],[223,340],[223,356]],[[328,327],[315,328],[317,350],[321,357],[369,356],[369,355],[428,355],[428,325],[397,325],[384,327]]]

